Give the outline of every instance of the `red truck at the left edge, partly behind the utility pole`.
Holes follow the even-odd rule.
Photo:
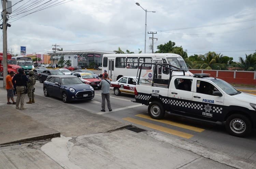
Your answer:
[[[3,53],[0,53],[0,77],[3,76]],[[20,66],[17,65],[17,62],[15,59],[12,59],[12,55],[10,53],[7,54],[7,69],[8,69],[8,74],[11,71],[14,71],[18,73],[18,69]]]

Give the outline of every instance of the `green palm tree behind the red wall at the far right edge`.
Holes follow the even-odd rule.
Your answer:
[[[245,59],[239,57],[240,67],[244,70],[254,71],[256,70],[256,52],[254,54],[245,54]]]

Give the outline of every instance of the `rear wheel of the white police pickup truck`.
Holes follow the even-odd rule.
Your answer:
[[[162,119],[165,116],[165,109],[158,101],[151,102],[148,105],[147,111],[153,119]]]

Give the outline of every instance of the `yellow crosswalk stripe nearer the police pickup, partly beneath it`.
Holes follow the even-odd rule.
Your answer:
[[[181,123],[177,123],[177,122],[170,121],[170,120],[156,120],[156,119],[152,119],[148,115],[138,114],[138,115],[135,115],[135,116],[138,116],[138,117],[141,117],[141,118],[144,118],[144,119],[149,119],[149,120],[157,121],[157,122],[160,122],[160,123],[165,123],[165,124],[173,125],[173,126],[176,126],[176,127],[179,127],[179,128],[183,128],[183,129],[193,130],[193,131],[200,132],[200,133],[202,131],[204,131],[204,129],[201,129],[201,128],[198,128],[198,127],[194,127],[194,126],[186,125],[186,124],[181,124]]]

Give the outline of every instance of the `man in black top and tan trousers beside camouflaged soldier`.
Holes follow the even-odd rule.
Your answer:
[[[17,90],[17,99],[16,99],[16,109],[19,109],[19,101],[20,101],[20,109],[24,108],[24,98],[25,98],[25,88],[27,87],[28,78],[24,72],[23,68],[19,68],[18,74],[12,79],[12,83],[16,84]]]

